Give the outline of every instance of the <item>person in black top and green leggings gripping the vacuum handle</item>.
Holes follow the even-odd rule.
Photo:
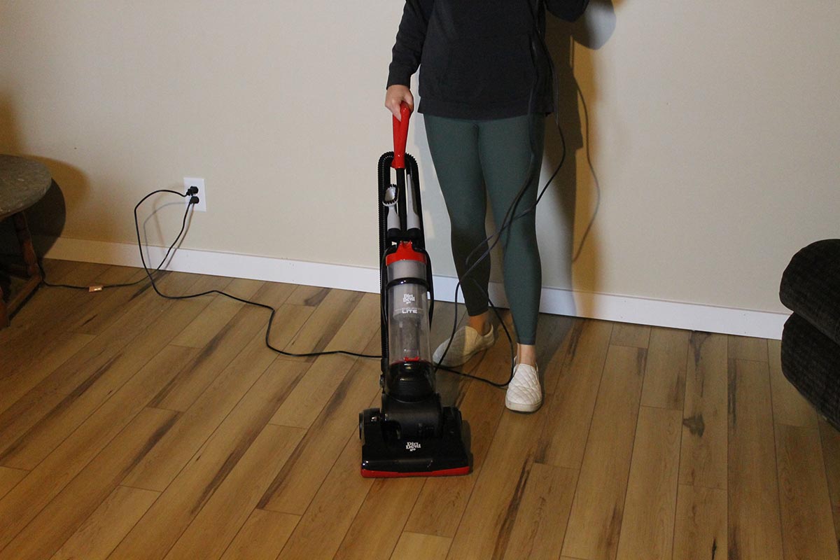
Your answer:
[[[534,204],[545,115],[554,110],[549,53],[541,37],[545,12],[548,8],[573,21],[587,3],[407,0],[388,68],[385,106],[396,118],[402,102],[413,110],[411,77],[420,71],[418,112],[449,214],[452,254],[469,316],[451,344],[444,341],[434,352],[435,362],[465,364],[496,342],[486,296],[490,261],[476,262],[487,249],[486,200],[489,196],[498,227],[522,194],[515,219],[500,238],[517,334],[505,397],[513,411],[536,411],[543,400],[535,346],[542,270]]]

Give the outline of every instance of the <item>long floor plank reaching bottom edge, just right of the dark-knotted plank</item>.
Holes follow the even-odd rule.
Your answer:
[[[729,556],[781,560],[779,484],[769,369],[729,362]]]

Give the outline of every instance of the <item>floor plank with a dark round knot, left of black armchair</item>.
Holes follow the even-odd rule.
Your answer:
[[[680,484],[727,489],[727,338],[693,332],[685,373]]]

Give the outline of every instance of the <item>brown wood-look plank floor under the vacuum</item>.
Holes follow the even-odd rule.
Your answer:
[[[375,295],[160,285],[278,307],[272,342],[291,351],[379,353]],[[453,312],[439,306],[435,340]],[[147,285],[39,290],[0,331],[0,559],[840,557],[840,434],[787,383],[777,341],[540,317],[538,412],[441,374],[474,472],[371,480],[357,420],[378,362],[278,356],[266,321]],[[501,342],[467,368],[506,378]]]

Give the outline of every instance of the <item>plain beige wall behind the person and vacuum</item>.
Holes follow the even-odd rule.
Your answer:
[[[50,164],[66,238],[131,243],[141,196],[201,176],[209,212],[184,247],[375,267],[401,13],[393,0],[0,0],[0,151]],[[543,284],[782,311],[790,256],[838,236],[837,29],[834,0],[592,0],[584,21],[552,24],[586,108],[569,69],[564,132],[581,145],[579,113],[585,147],[539,208]],[[454,275],[421,119],[409,151],[436,272]],[[150,242],[180,215],[146,222]]]

